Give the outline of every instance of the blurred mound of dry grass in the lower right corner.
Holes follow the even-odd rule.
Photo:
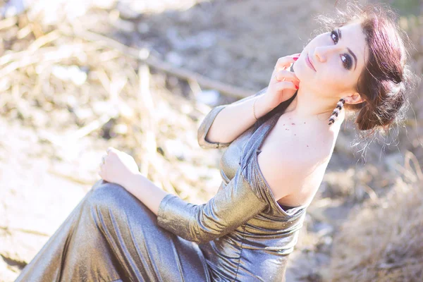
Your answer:
[[[422,281],[423,174],[406,160],[388,195],[357,207],[334,238],[331,281]]]

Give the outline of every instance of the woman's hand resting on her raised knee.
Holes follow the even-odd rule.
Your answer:
[[[133,157],[121,152],[114,147],[108,147],[107,154],[102,157],[99,176],[111,183],[116,183],[125,188],[125,181],[140,173],[140,169]]]

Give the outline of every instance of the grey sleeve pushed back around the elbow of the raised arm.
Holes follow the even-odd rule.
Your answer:
[[[245,100],[252,99],[256,96],[263,94],[264,92],[266,92],[266,90],[267,90],[267,87],[260,90],[254,95],[240,99],[236,102],[233,102],[232,104],[238,104],[240,102],[244,102]],[[209,148],[217,149],[217,148],[228,147],[229,145],[231,145],[231,142],[222,143],[222,142],[210,142],[209,140],[206,140],[206,135],[209,132],[209,129],[212,127],[212,124],[217,114],[219,114],[219,112],[223,110],[224,108],[226,108],[226,106],[228,105],[229,104],[215,106],[211,111],[209,111],[209,114],[207,114],[202,120],[202,123],[200,124],[197,131],[197,140],[198,140],[198,145],[200,145],[200,147],[202,147],[203,149],[209,149]]]

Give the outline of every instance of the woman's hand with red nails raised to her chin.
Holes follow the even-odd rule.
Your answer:
[[[300,54],[293,54],[278,59],[274,71],[271,74],[269,86],[262,98],[266,101],[264,103],[271,109],[293,97],[298,90],[300,80],[298,80],[295,73],[289,71],[289,68],[299,56]]]

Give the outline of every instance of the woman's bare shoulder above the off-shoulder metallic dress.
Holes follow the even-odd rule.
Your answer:
[[[262,147],[257,163],[276,200],[316,188],[333,152],[330,134],[279,136]]]

